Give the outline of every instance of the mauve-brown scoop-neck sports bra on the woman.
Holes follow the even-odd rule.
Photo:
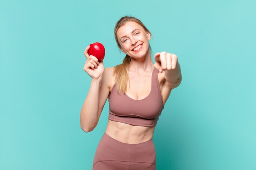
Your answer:
[[[137,126],[155,126],[164,109],[157,69],[155,67],[153,69],[151,90],[146,98],[135,100],[125,95],[123,91],[119,95],[115,84],[108,102],[108,119]]]

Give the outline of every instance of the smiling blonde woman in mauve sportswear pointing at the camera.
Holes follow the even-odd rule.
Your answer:
[[[81,128],[92,131],[109,100],[106,131],[94,155],[92,170],[155,170],[153,132],[171,90],[182,74],[175,54],[161,52],[151,59],[151,33],[137,18],[124,16],[115,26],[123,63],[104,69],[103,61],[85,51],[84,71],[92,77],[80,113]],[[127,88],[128,87],[128,88]]]

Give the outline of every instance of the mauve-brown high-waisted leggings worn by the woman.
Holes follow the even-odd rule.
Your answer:
[[[104,132],[94,155],[92,170],[156,170],[153,139],[126,144]]]

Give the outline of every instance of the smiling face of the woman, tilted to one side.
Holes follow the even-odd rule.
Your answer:
[[[130,57],[143,57],[148,52],[150,33],[137,22],[128,21],[117,30],[121,51]]]

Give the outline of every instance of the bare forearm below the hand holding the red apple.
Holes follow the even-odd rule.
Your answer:
[[[90,90],[80,112],[80,124],[85,132],[91,131],[97,125],[101,82],[101,78],[92,79]]]

